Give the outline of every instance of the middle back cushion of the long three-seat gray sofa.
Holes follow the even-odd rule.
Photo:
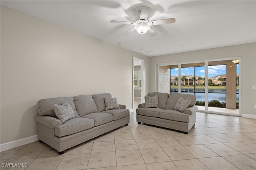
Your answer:
[[[74,103],[80,117],[90,113],[99,112],[94,100],[92,99],[92,95],[75,96]]]

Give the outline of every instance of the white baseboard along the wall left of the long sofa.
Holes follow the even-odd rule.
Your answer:
[[[3,143],[3,144],[0,144],[0,152],[2,152],[4,150],[16,148],[16,147],[22,146],[24,144],[35,142],[37,140],[38,140],[38,136],[36,134],[34,136],[29,136],[29,137],[14,140],[14,141],[11,141],[11,142],[6,142],[6,143]]]

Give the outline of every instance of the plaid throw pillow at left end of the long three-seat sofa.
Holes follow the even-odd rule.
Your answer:
[[[69,119],[75,118],[74,110],[68,104],[68,102],[62,103],[62,105],[53,104],[52,108],[56,117],[58,117],[62,123],[65,123]]]

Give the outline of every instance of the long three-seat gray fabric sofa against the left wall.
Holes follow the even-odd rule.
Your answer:
[[[35,121],[39,141],[63,154],[68,148],[128,125],[130,112],[126,106],[119,105],[120,109],[105,110],[105,97],[112,98],[112,95],[104,93],[38,101]],[[54,113],[53,104],[62,105],[65,102],[72,107],[70,109],[74,111],[74,118],[62,123]]]

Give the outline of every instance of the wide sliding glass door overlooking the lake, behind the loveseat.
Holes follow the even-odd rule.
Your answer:
[[[158,91],[196,95],[199,111],[241,115],[238,59],[158,65]]]

